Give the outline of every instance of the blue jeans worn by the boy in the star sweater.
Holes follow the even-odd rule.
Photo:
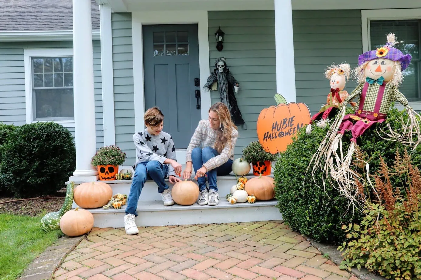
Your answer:
[[[168,189],[165,178],[168,176],[168,166],[157,160],[141,162],[136,166],[130,193],[127,201],[126,214],[133,214],[137,217],[137,201],[146,180],[153,180],[158,185],[158,193],[162,194]]]

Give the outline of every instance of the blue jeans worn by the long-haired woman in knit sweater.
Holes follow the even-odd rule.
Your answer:
[[[207,162],[213,157],[216,157],[218,155],[218,151],[216,149],[213,149],[211,147],[205,147],[203,149],[197,147],[193,149],[192,151],[192,162],[193,162],[193,168],[195,168],[195,172],[199,170],[204,162]],[[216,167],[215,169],[212,169],[206,174],[208,175],[208,182],[209,182],[209,190],[215,190],[218,191],[218,187],[216,186],[216,176],[224,176],[231,173],[232,160],[229,159],[227,162],[225,162],[223,165]],[[199,184],[199,190],[203,191],[206,188],[206,177],[198,177],[197,183]]]

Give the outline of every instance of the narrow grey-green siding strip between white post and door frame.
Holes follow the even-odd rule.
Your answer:
[[[135,126],[131,13],[112,13],[111,20],[115,142],[127,154],[124,165],[132,165],[136,151],[132,140]]]

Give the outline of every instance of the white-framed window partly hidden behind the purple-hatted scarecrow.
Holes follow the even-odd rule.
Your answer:
[[[400,42],[395,47],[412,56],[402,72],[400,92],[415,110],[421,110],[421,9],[362,10],[361,18],[363,52],[383,46],[386,35],[394,33]],[[399,109],[401,106],[397,104]]]

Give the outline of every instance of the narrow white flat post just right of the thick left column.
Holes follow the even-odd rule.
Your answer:
[[[107,5],[99,5],[99,18],[101,23],[101,83],[104,146],[109,146],[115,144],[111,8]]]

